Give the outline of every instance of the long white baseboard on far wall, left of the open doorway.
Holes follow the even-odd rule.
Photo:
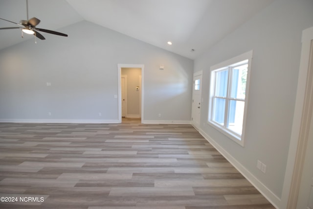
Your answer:
[[[92,119],[0,119],[6,123],[119,123],[118,120]]]

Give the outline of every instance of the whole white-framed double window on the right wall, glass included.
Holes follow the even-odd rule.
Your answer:
[[[249,51],[211,67],[208,122],[241,145],[251,58]]]

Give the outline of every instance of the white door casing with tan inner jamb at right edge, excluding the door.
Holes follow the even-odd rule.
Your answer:
[[[287,167],[285,172],[281,209],[295,209],[300,189],[301,174],[305,160],[306,144],[308,142],[308,128],[312,114],[313,72],[310,72],[310,52],[313,40],[313,27],[302,31],[301,60],[298,75],[298,87],[295,99],[291,140]],[[311,80],[311,81],[310,81]]]

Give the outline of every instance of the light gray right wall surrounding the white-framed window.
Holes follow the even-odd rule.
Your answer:
[[[291,138],[302,30],[313,26],[312,0],[276,0],[200,58],[201,130],[279,198]],[[210,66],[253,50],[245,147],[207,124]],[[266,173],[256,168],[267,165]]]

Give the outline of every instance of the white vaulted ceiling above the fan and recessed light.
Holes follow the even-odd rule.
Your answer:
[[[28,0],[28,13],[29,18],[41,20],[39,28],[58,30],[87,20],[195,59],[272,1]],[[25,20],[26,0],[0,0],[0,18],[15,23]],[[0,20],[0,27],[14,26]],[[24,35],[22,39],[19,29],[0,30],[0,49],[30,38]],[[168,41],[173,45],[167,45]]]

